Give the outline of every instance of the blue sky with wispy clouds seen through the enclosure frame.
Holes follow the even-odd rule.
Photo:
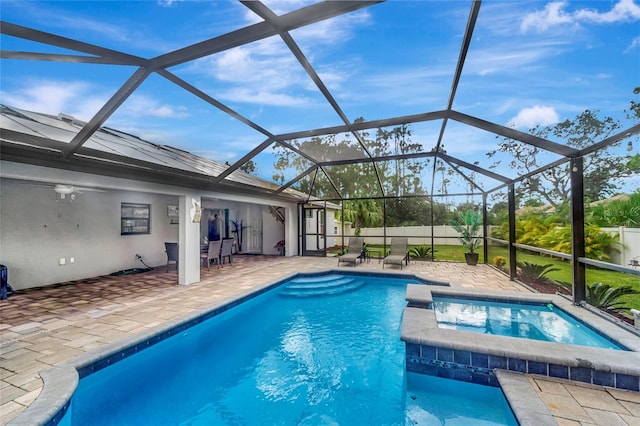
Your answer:
[[[277,14],[313,2],[266,1]],[[291,32],[349,120],[442,110],[468,1],[389,1]],[[230,1],[3,1],[2,19],[151,58],[260,19]],[[2,36],[2,48],[61,49]],[[74,52],[64,52],[74,53]],[[1,102],[88,120],[133,67],[2,60]],[[170,69],[274,134],[342,124],[279,37]],[[526,131],[597,109],[623,121],[640,86],[640,3],[485,1],[453,108]],[[638,97],[635,96],[637,100]],[[265,137],[158,75],[106,122],[149,141],[233,163]],[[429,151],[440,122],[412,125]],[[448,153],[480,161],[495,137],[449,123]],[[558,141],[562,142],[562,141]],[[636,147],[637,149],[640,147]],[[270,175],[269,152],[259,172]],[[508,171],[505,174],[509,175]]]

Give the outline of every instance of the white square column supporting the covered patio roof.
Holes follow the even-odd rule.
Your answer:
[[[200,281],[200,216],[199,195],[180,196],[178,283],[189,285]]]

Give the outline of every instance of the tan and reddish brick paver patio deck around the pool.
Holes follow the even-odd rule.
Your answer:
[[[43,369],[296,272],[351,268],[336,263],[330,257],[236,256],[233,264],[201,269],[201,281],[189,286],[177,285],[175,270],[159,267],[18,292],[0,301],[0,424],[38,397]],[[356,269],[377,271],[382,264],[358,263]],[[453,287],[528,291],[485,265],[412,262],[402,272]],[[546,377],[529,381],[558,424],[640,425],[638,392]]]

